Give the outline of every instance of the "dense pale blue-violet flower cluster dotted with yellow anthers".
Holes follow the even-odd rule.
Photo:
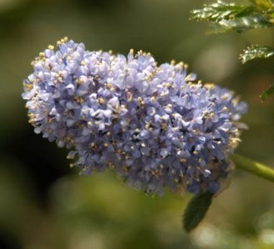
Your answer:
[[[36,133],[70,149],[81,172],[115,169],[137,190],[222,189],[246,112],[231,91],[202,84],[150,53],[90,52],[66,37],[39,54],[23,82]]]

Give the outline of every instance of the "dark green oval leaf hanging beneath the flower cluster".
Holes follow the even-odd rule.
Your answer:
[[[186,232],[190,232],[204,219],[206,211],[211,205],[213,194],[205,192],[193,196],[188,203],[183,216],[183,227]]]

